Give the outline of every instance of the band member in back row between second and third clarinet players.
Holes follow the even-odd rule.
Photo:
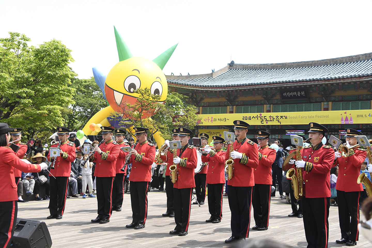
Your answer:
[[[124,143],[124,136],[126,132],[124,129],[116,129],[116,143],[119,144],[120,148],[129,146]],[[125,156],[128,155],[128,152],[119,150],[119,157],[116,160],[116,169],[115,169],[115,179],[112,187],[112,210],[116,212],[121,211],[121,206],[123,204],[124,197],[124,177],[126,176],[126,166],[124,171],[121,170],[125,164]]]

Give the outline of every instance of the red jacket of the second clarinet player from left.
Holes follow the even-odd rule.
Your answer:
[[[110,139],[99,145],[102,153],[98,154],[94,152],[93,160],[90,162],[96,162],[96,168],[94,169],[95,177],[115,177],[116,160],[118,159],[120,152],[120,145]]]

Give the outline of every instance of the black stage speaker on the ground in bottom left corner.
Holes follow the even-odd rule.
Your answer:
[[[44,221],[17,218],[16,228],[12,239],[13,247],[22,248],[51,248],[47,224]]]

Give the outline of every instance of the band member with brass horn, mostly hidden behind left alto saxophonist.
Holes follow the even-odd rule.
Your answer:
[[[172,139],[174,141],[180,140],[178,136],[178,129],[173,129]],[[169,141],[165,141],[165,144],[169,147]],[[170,180],[170,170],[169,167],[173,164],[173,149],[169,149],[167,154],[161,155],[160,159],[167,162],[167,169],[165,171],[165,191],[167,194],[167,212],[163,213],[162,216],[174,217],[173,209],[173,183]]]

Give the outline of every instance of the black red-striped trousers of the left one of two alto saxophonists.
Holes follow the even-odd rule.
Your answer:
[[[176,228],[174,230],[186,232],[189,229],[192,189],[173,188],[174,221],[176,222]]]

